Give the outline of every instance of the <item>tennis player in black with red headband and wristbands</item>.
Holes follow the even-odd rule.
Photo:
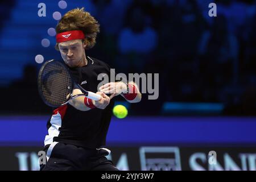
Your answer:
[[[84,8],[68,11],[57,24],[55,48],[76,82],[99,94],[101,100],[80,96],[53,110],[44,140],[47,163],[40,165],[40,170],[118,170],[106,158],[110,150],[104,148],[114,106],[112,98],[121,94],[128,102],[139,102],[141,93],[134,82],[109,82],[97,89],[101,82],[98,75],[110,77],[110,67],[86,56],[85,50],[94,46],[99,31],[100,24]],[[79,93],[81,90],[73,90],[73,95]]]

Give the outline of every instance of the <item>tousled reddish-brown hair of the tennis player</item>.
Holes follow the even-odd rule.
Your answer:
[[[65,31],[81,30],[85,35],[83,41],[86,43],[86,49],[89,49],[96,43],[97,34],[100,32],[100,24],[82,7],[81,9],[77,8],[68,11],[60,19],[55,30],[57,34]],[[59,50],[58,44],[55,45],[55,49]]]

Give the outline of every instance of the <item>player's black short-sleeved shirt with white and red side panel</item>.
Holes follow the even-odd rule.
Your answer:
[[[77,84],[85,90],[96,93],[97,86],[101,80],[97,80],[100,73],[110,78],[110,67],[108,64],[87,57],[88,64],[80,68],[70,68]],[[44,144],[52,142],[63,142],[75,144],[86,148],[98,148],[105,146],[106,134],[109,129],[110,119],[114,101],[105,109],[90,109],[80,111],[67,104],[55,109],[52,117],[47,122],[48,135]]]

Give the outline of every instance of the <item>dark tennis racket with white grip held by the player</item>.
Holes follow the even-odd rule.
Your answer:
[[[74,88],[79,88],[83,94],[72,96]],[[67,104],[69,100],[79,96],[86,96],[95,101],[101,99],[100,95],[86,91],[76,84],[67,66],[57,60],[46,61],[40,68],[38,90],[44,103],[51,107]]]

